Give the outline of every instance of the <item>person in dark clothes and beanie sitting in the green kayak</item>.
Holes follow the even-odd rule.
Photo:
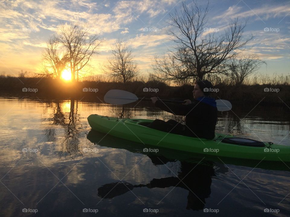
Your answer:
[[[186,99],[182,105],[164,103],[157,97],[152,97],[151,100],[156,107],[174,115],[184,115],[185,125],[175,120],[165,122],[156,119],[148,127],[174,134],[213,139],[218,110],[215,100],[209,97],[212,88],[208,80],[195,82],[192,91],[194,101]]]

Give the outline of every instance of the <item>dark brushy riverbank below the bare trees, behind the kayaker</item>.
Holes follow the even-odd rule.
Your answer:
[[[97,79],[99,78],[99,79]],[[283,80],[281,80],[283,78]],[[287,77],[289,79],[289,77]],[[225,80],[227,81],[227,80]],[[290,107],[290,85],[285,77],[280,80],[264,82],[263,84],[247,83],[231,85],[227,82],[214,83],[215,99],[226,99],[233,104],[247,105],[279,105]],[[257,79],[256,79],[257,81]],[[266,80],[265,80],[266,81]],[[250,81],[248,81],[250,82]],[[64,82],[53,78],[11,77],[0,76],[0,91],[2,94],[37,96],[46,99],[67,99],[102,101],[108,90],[120,89],[136,94],[138,97],[158,96],[161,99],[192,99],[193,85],[169,86],[168,83],[157,80],[131,81],[127,83],[105,81],[101,77],[90,77],[82,82]]]

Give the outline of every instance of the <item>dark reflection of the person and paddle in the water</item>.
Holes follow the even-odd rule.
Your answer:
[[[105,184],[98,188],[98,196],[114,198],[135,187],[181,187],[188,190],[186,209],[204,209],[205,198],[211,194],[211,177],[214,176],[214,168],[210,165],[181,162],[180,171],[176,175],[177,177],[154,178],[149,184],[132,185],[124,181]]]

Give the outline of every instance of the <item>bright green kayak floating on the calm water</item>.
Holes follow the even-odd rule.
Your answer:
[[[256,140],[216,134],[213,140],[168,134],[146,127],[153,120],[120,119],[90,115],[88,122],[93,130],[146,145],[198,153],[205,156],[230,157],[263,161],[290,161],[290,147]],[[151,149],[154,151],[154,149]],[[148,149],[150,152],[150,149]]]

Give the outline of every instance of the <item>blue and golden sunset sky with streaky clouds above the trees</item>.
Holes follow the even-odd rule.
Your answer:
[[[206,5],[205,1],[197,1]],[[186,1],[189,5],[192,1]],[[86,22],[92,34],[104,38],[100,54],[92,59],[94,73],[102,73],[109,50],[116,39],[133,49],[140,71],[151,70],[154,55],[174,46],[166,30],[168,13],[179,10],[181,1],[1,1],[0,73],[38,72],[41,50],[49,36],[58,32],[61,22]],[[267,66],[263,74],[288,74],[290,68],[290,1],[209,1],[208,28],[222,33],[231,19],[248,18],[244,37],[254,35],[247,54],[256,54]],[[148,28],[148,31],[144,31]],[[269,28],[269,31],[265,31]],[[272,28],[272,29],[270,29]],[[146,29],[145,29],[146,30]],[[150,31],[152,30],[152,31]]]

